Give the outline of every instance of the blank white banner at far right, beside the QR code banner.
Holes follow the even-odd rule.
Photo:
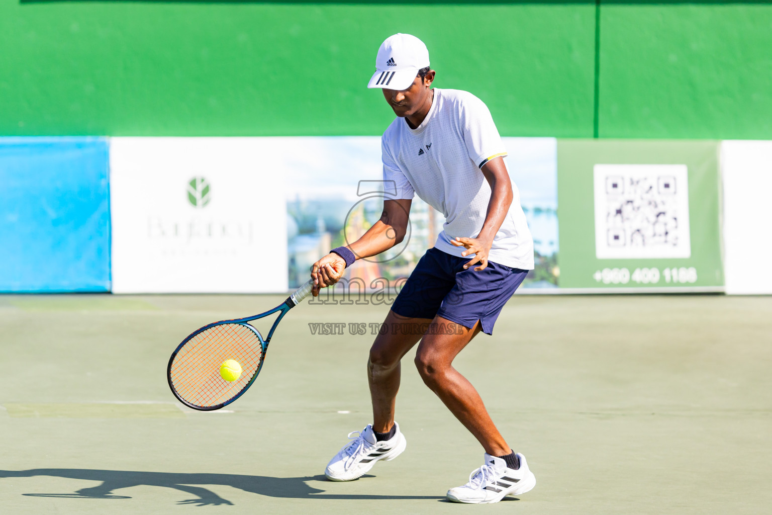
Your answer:
[[[723,141],[721,174],[726,293],[772,293],[772,141]]]

